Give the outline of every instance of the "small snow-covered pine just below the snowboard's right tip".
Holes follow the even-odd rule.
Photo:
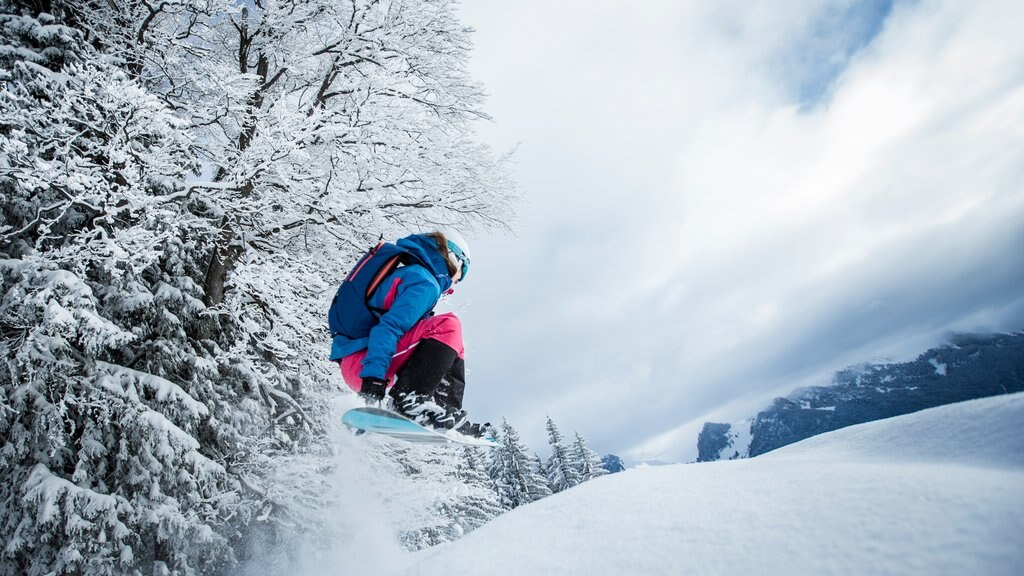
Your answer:
[[[506,508],[515,508],[551,495],[544,476],[535,469],[532,459],[508,420],[502,421],[501,446],[490,449],[487,475]]]

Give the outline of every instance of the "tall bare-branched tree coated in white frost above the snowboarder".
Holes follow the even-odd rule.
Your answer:
[[[340,271],[381,232],[511,215],[502,164],[472,138],[483,92],[452,2],[125,5],[75,13],[117,23],[92,29],[193,119],[207,177],[189,190],[221,231],[208,305],[272,301],[254,269]],[[121,25],[127,10],[142,24]]]

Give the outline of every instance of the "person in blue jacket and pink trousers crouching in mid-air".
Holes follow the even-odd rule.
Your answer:
[[[481,437],[490,424],[470,422],[462,409],[462,324],[452,313],[433,313],[469,262],[469,246],[455,231],[378,245],[331,304],[331,360],[369,405],[389,397],[394,411],[420,424]]]

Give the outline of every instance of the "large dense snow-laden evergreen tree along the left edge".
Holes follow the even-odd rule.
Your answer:
[[[242,414],[187,337],[212,229],[168,183],[191,145],[52,15],[0,14],[0,574],[229,561]]]

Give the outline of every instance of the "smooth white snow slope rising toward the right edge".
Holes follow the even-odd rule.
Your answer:
[[[403,575],[1024,574],[1024,394],[749,460],[638,468],[420,552]]]

